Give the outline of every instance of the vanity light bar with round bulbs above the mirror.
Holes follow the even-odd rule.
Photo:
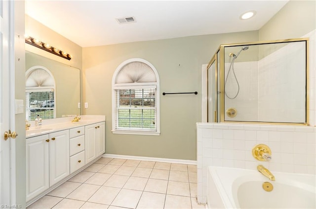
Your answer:
[[[41,42],[38,39],[32,38],[30,36],[25,36],[25,42],[65,59],[71,60],[72,58],[72,56],[65,51],[59,50],[48,43]]]

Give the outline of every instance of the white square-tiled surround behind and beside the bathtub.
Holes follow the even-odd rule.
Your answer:
[[[266,144],[270,162],[257,161],[252,148]],[[316,174],[316,127],[197,123],[197,201],[206,203],[207,167],[256,170],[262,164],[272,173]]]

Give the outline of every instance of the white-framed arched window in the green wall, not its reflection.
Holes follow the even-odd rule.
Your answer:
[[[112,132],[159,135],[159,77],[144,59],[121,63],[112,78]]]

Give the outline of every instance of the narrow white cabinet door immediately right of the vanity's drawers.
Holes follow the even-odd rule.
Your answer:
[[[96,156],[96,124],[86,125],[84,128],[85,164],[91,162]]]

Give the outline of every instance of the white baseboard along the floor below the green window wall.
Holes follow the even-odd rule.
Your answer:
[[[163,163],[178,163],[178,164],[197,165],[197,161],[180,160],[180,159],[151,158],[151,157],[115,155],[115,154],[103,154],[102,157],[103,158],[120,158],[120,159],[127,159],[127,160],[156,161],[156,162],[163,162]]]

